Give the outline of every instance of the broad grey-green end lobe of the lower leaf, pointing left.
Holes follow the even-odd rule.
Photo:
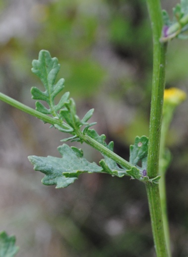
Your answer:
[[[78,175],[83,172],[100,172],[101,168],[96,163],[90,163],[83,158],[81,150],[69,147],[66,144],[58,147],[62,158],[48,156],[29,156],[29,161],[34,169],[45,174],[42,179],[44,185],[57,185],[56,188],[66,187],[73,183]]]

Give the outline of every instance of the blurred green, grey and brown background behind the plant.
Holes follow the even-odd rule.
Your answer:
[[[172,13],[175,0],[162,0]],[[80,117],[128,159],[148,135],[152,38],[145,0],[0,0],[0,92],[35,108],[41,87],[31,62],[41,49],[61,64]],[[188,41],[167,53],[167,87],[188,92]],[[168,147],[167,195],[174,257],[188,257],[188,101],[176,111]],[[85,174],[64,189],[44,186],[28,155],[60,157],[67,135],[0,102],[0,230],[16,235],[17,257],[154,257],[145,187],[128,178]],[[77,145],[98,162],[100,154]]]

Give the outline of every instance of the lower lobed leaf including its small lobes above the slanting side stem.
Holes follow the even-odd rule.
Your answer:
[[[88,134],[96,139],[101,144],[113,151],[113,142],[108,145],[105,142],[105,135],[98,135],[94,129],[88,129]],[[130,147],[130,160],[132,161],[132,168],[127,170],[120,167],[114,160],[104,155],[97,165],[95,162],[89,162],[83,157],[81,149],[76,147],[69,147],[63,144],[58,147],[62,158],[48,156],[29,156],[30,162],[34,165],[34,169],[45,174],[42,183],[45,185],[56,185],[56,188],[66,187],[73,183],[77,177],[82,173],[107,173],[112,176],[130,176],[132,179],[140,179],[143,177],[142,168],[136,166],[138,161],[144,161],[147,156],[147,142],[146,136],[136,137],[134,145]],[[142,145],[141,145],[142,144]],[[146,176],[146,175],[145,175]]]

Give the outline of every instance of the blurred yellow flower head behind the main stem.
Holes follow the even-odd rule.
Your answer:
[[[187,94],[178,88],[165,89],[164,92],[164,104],[170,104],[173,106],[180,105],[187,98]]]

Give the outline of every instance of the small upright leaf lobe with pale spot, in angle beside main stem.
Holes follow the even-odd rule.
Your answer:
[[[148,138],[143,135],[141,137],[136,136],[133,145],[130,145],[130,158],[129,162],[132,165],[138,164],[141,161],[142,168],[146,169],[147,165],[147,153],[148,153]]]

